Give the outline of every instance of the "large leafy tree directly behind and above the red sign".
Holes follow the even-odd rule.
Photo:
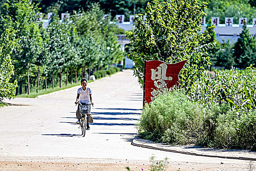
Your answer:
[[[208,67],[207,50],[214,43],[210,39],[213,27],[201,34],[200,22],[205,17],[206,4],[197,0],[153,0],[146,8],[146,21],[142,14],[135,16],[135,30],[128,32],[135,51],[128,57],[135,63],[134,74],[143,84],[144,61],[160,60],[177,63],[188,60],[180,72],[180,85],[191,87]]]

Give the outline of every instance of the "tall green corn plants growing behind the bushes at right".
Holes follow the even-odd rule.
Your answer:
[[[256,71],[253,67],[245,70],[218,70],[215,75],[205,72],[187,95],[191,101],[205,106],[226,103],[232,109],[244,113],[256,108],[255,79]]]

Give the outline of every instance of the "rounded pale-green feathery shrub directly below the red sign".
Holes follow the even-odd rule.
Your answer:
[[[202,120],[206,111],[178,91],[160,94],[150,107],[143,108],[139,134],[169,144],[197,143],[205,132]]]

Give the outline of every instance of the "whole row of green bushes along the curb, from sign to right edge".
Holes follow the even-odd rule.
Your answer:
[[[256,111],[191,102],[181,90],[159,93],[145,105],[139,136],[168,144],[256,150]]]

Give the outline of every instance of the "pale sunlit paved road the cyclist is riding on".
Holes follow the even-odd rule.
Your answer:
[[[78,87],[36,99],[16,98],[10,103],[28,106],[0,108],[0,160],[11,157],[66,157],[90,160],[149,161],[169,158],[193,168],[244,170],[248,161],[191,156],[135,147],[143,91],[131,70],[98,82],[93,90],[94,123],[85,137],[76,122]],[[21,158],[22,158],[21,157]],[[222,164],[224,163],[224,164]],[[189,167],[188,166],[188,167]],[[192,170],[192,168],[191,168]],[[203,170],[203,169],[202,169]]]

